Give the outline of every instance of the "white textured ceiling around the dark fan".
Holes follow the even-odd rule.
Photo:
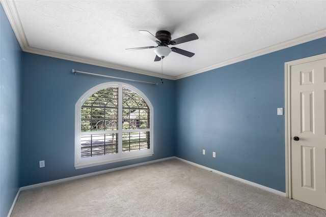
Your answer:
[[[175,46],[193,57],[164,59],[172,79],[298,37],[326,36],[326,1],[1,1],[24,51],[154,76],[161,61],[153,49],[125,50],[156,46],[138,31],[168,30],[172,39],[196,33],[199,40]]]

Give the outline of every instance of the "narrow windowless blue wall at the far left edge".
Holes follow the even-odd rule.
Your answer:
[[[0,216],[19,189],[21,49],[0,5]]]

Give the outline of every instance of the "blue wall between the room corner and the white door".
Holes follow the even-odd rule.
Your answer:
[[[284,63],[321,53],[326,38],[177,80],[176,156],[285,192]]]

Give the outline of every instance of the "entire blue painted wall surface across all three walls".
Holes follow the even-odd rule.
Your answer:
[[[164,85],[122,81],[154,107],[154,155],[76,170],[74,105],[114,79],[71,69],[159,79],[21,52],[2,7],[0,15],[0,216],[19,187],[171,156],[285,192],[284,116],[276,115],[284,108],[284,62],[326,53],[326,38]]]

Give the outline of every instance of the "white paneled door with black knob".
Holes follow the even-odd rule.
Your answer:
[[[326,59],[290,76],[292,198],[326,209]]]

